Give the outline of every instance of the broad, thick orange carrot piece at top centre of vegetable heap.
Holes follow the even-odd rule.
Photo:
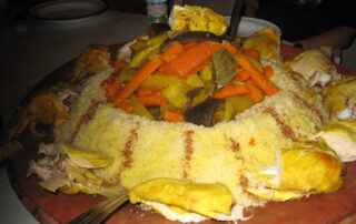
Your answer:
[[[187,78],[196,68],[205,63],[214,53],[219,51],[221,45],[215,42],[201,42],[191,47],[161,67],[164,74],[172,74],[180,78]]]

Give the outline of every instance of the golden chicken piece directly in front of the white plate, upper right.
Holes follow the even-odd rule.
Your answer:
[[[263,59],[281,61],[280,32],[274,28],[264,28],[247,38],[244,49],[255,48]]]

